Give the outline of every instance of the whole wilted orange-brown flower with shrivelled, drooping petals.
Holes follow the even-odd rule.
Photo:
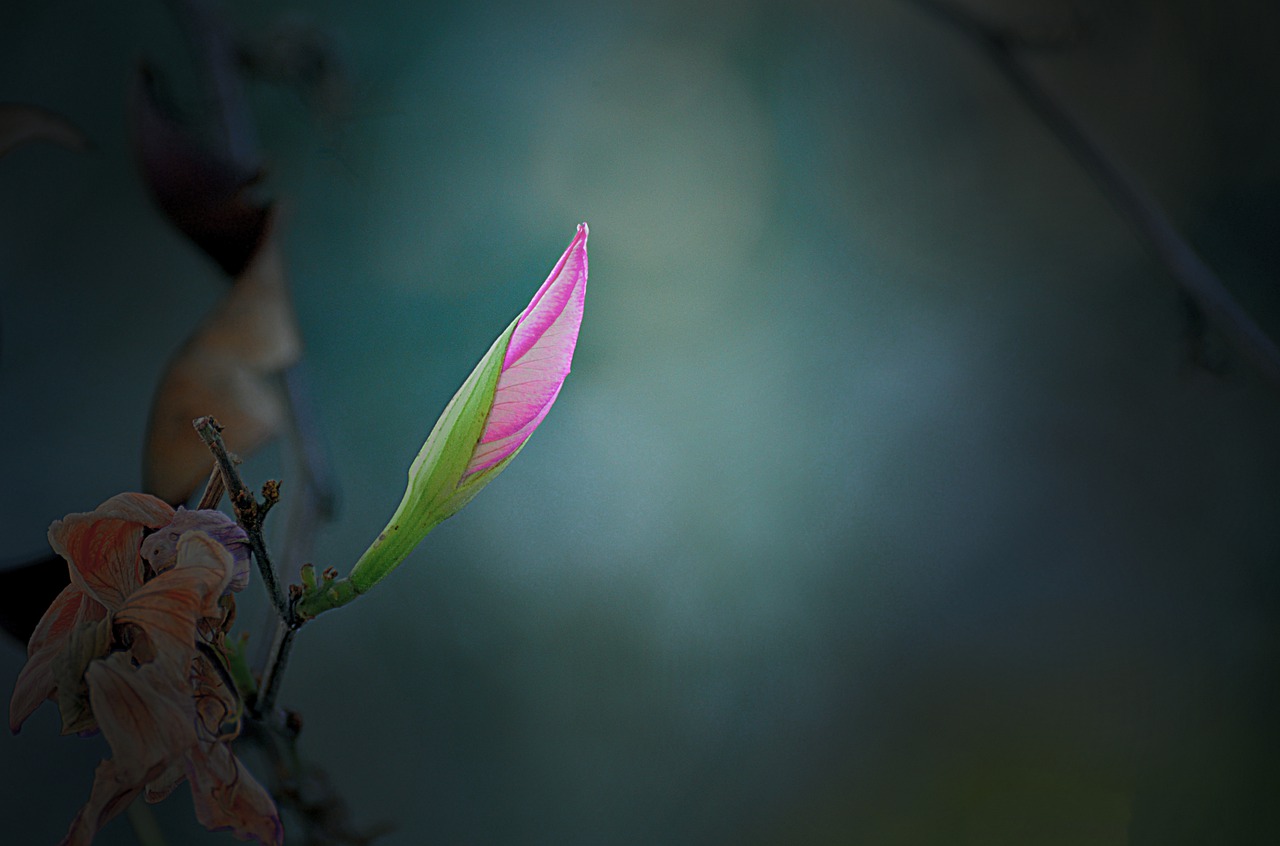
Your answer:
[[[207,828],[280,843],[271,797],[228,745],[241,703],[224,636],[229,593],[247,576],[243,530],[220,512],[129,493],[55,521],[49,541],[72,584],[32,635],[9,726],[54,699],[64,733],[100,730],[113,753],[63,842],[88,843],[138,794],[159,801],[187,779]]]

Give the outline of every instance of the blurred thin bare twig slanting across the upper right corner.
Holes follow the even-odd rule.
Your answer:
[[[1262,330],[1231,296],[1222,280],[1178,233],[1156,198],[1036,78],[1015,47],[1024,40],[1018,33],[979,19],[972,12],[941,3],[915,0],[916,5],[941,18],[974,41],[992,64],[1012,84],[1023,101],[1057,136],[1076,161],[1098,182],[1103,193],[1134,227],[1155,257],[1169,270],[1184,294],[1204,316],[1249,358],[1260,374],[1280,389],[1280,347]]]

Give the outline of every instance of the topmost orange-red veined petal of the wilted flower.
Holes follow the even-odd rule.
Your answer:
[[[143,529],[168,525],[173,513],[155,497],[116,494],[91,512],[55,520],[49,544],[67,559],[72,584],[115,611],[142,584]]]

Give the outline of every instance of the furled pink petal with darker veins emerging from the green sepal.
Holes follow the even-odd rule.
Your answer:
[[[493,408],[463,475],[512,454],[543,421],[568,375],[586,298],[586,224],[516,319]]]

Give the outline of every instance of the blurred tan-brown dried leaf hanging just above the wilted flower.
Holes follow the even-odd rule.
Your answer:
[[[178,351],[156,389],[142,462],[146,490],[186,502],[212,458],[191,421],[212,415],[247,454],[287,422],[280,374],[302,355],[284,262],[268,237],[227,298]]]

